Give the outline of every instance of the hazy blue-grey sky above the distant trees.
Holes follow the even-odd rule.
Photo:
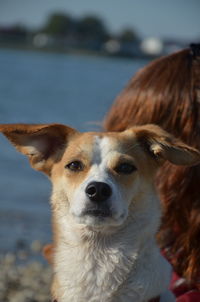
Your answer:
[[[112,33],[200,40],[200,0],[0,0],[0,25],[40,27],[52,12],[95,14]]]

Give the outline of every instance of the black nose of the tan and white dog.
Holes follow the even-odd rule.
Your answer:
[[[85,192],[91,201],[106,201],[112,194],[112,189],[105,182],[91,182]]]

